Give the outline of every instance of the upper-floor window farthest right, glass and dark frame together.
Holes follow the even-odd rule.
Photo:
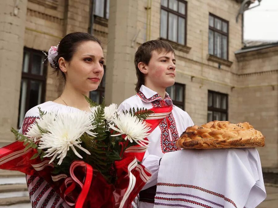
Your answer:
[[[208,53],[228,59],[229,22],[209,14]]]

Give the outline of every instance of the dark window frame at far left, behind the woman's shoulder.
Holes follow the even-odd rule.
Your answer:
[[[30,89],[31,89],[31,81],[40,81],[42,82],[42,88],[41,88],[41,103],[45,102],[45,94],[46,94],[46,80],[47,80],[47,62],[42,63],[42,67],[43,67],[43,71],[42,71],[42,75],[36,75],[36,74],[32,74],[31,70],[32,70],[32,61],[33,61],[33,55],[40,55],[42,57],[42,59],[44,59],[44,55],[42,54],[41,51],[39,50],[35,50],[32,48],[27,48],[24,47],[23,48],[23,54],[24,52],[28,52],[30,53],[30,57],[29,57],[29,61],[28,61],[28,72],[23,72],[23,63],[24,63],[24,55],[23,55],[23,60],[22,60],[22,68],[21,68],[21,80],[27,80],[27,89],[26,89],[26,100],[25,100],[25,113],[29,110],[29,104],[30,104]],[[21,84],[20,84],[20,88],[21,88]],[[21,94],[19,95],[19,101],[21,99]],[[40,103],[39,103],[40,104]],[[18,109],[18,116],[20,115],[20,106],[21,102],[19,102],[19,109]],[[19,118],[18,118],[18,127],[20,128],[21,124],[19,124]]]

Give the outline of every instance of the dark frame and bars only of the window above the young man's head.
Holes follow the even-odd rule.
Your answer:
[[[166,38],[161,37],[161,34],[159,34],[159,36],[160,36],[161,38],[163,38],[163,39],[168,40],[168,41],[172,41],[172,40],[169,40],[169,38],[168,38],[169,12],[170,12],[170,13],[172,13],[172,14],[178,16],[177,24],[179,24],[179,17],[182,17],[182,18],[184,18],[184,20],[185,20],[185,23],[184,23],[184,24],[185,24],[185,25],[184,25],[184,44],[181,44],[181,43],[178,42],[178,41],[179,41],[179,25],[178,25],[178,27],[177,27],[177,41],[172,41],[172,42],[175,42],[175,43],[178,43],[178,44],[180,44],[180,45],[186,46],[186,44],[187,44],[187,41],[186,41],[186,40],[187,40],[187,1],[185,1],[185,0],[177,0],[177,1],[178,1],[178,11],[174,11],[174,10],[172,10],[172,9],[169,8],[169,1],[170,1],[170,0],[167,0],[167,7],[163,6],[163,5],[161,4],[161,2],[160,2],[160,13],[161,13],[161,10],[164,10],[164,11],[167,12],[167,29],[166,29],[166,31],[167,31],[167,36],[166,36]],[[179,13],[179,2],[182,2],[182,3],[185,4],[185,15]],[[161,17],[160,17],[160,18],[161,18]],[[160,22],[159,33],[160,33],[160,30],[161,30],[161,22]]]

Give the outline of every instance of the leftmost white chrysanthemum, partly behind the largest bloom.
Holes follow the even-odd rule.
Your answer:
[[[49,126],[53,123],[56,118],[55,113],[46,113],[41,118],[37,118],[33,124],[28,128],[26,136],[36,140],[38,137],[41,137],[42,132],[40,132],[38,126],[42,129],[44,133],[49,132]]]

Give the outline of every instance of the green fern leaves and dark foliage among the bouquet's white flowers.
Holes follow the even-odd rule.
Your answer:
[[[104,101],[101,105],[99,105],[87,96],[84,95],[84,97],[91,107],[96,107],[94,119],[92,122],[92,125],[96,126],[96,128],[93,130],[93,132],[96,133],[96,135],[94,137],[88,135],[87,133],[84,133],[79,138],[80,141],[82,141],[80,145],[82,145],[83,148],[88,150],[91,155],[86,154],[79,148],[75,149],[82,156],[82,160],[84,162],[90,164],[94,169],[100,171],[102,175],[107,179],[107,181],[113,184],[117,179],[115,161],[121,160],[123,151],[128,147],[136,145],[136,143],[130,143],[129,141],[125,141],[121,135],[112,136],[117,134],[118,132],[111,131],[109,126],[115,126],[115,124],[113,122],[107,122],[104,119]],[[153,114],[154,112],[144,108],[135,109],[133,107],[132,109],[129,109],[129,111],[123,111],[123,113],[136,116],[138,119],[141,120],[145,120],[149,115]],[[42,118],[42,116],[44,116],[46,112],[42,111],[39,107],[39,114],[40,118]],[[118,115],[116,114],[116,116]],[[41,133],[46,133],[44,129],[41,128],[38,124],[37,127]],[[23,145],[25,145],[25,150],[28,150],[29,148],[37,150],[37,153],[34,154],[31,159],[35,159],[38,157],[43,159],[43,156],[46,155],[46,150],[38,149],[38,142],[34,142],[32,139],[24,136],[23,134],[20,134],[13,128],[11,129],[11,131],[15,134],[17,140],[23,142]],[[57,165],[59,159],[54,159],[54,168],[52,173],[69,175],[70,165],[74,160],[81,159],[78,158],[70,149],[67,152],[66,157],[63,159],[61,165]]]

